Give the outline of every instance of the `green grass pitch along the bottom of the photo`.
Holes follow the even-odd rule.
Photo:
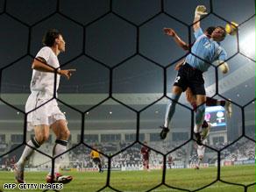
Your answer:
[[[74,180],[64,185],[60,191],[67,192],[93,192],[103,188],[107,181],[107,172],[103,174],[94,172],[63,172],[70,174]],[[45,181],[46,172],[26,172],[25,181],[27,183],[43,183]],[[191,191],[196,188],[202,188],[217,178],[217,167],[194,169],[167,169],[166,183],[167,185],[186,188]],[[245,185],[250,185],[256,182],[256,166],[236,166],[236,167],[221,167],[221,179],[224,181],[235,182]],[[142,192],[153,188],[161,183],[162,171],[152,170],[147,171],[112,171],[110,174],[110,186],[121,191]],[[14,173],[0,172],[0,191],[42,191],[42,190],[19,190],[4,189],[4,183],[14,182]],[[53,190],[48,190],[53,191]],[[103,192],[112,192],[111,188],[104,188]],[[153,189],[153,192],[178,192],[161,185],[159,188]],[[242,192],[243,187],[225,184],[221,181],[215,182],[208,188],[199,190],[200,192]],[[256,185],[247,188],[247,192],[255,192]]]

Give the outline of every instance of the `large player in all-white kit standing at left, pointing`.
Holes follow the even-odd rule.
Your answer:
[[[31,95],[25,104],[27,115],[27,128],[34,130],[35,136],[27,142],[25,150],[20,159],[15,164],[16,181],[24,183],[25,162],[29,160],[35,148],[39,148],[48,138],[50,129],[56,135],[55,145],[53,146],[53,156],[64,153],[67,150],[68,122],[65,115],[60,111],[58,103],[54,96],[59,88],[60,75],[68,79],[75,69],[60,69],[60,63],[57,58],[59,53],[65,51],[65,41],[61,33],[56,29],[50,29],[43,38],[45,45],[39,50],[32,62],[32,81]],[[55,82],[56,75],[56,82]],[[52,99],[52,100],[51,100]],[[62,176],[59,173],[61,156],[55,159],[54,176],[46,176],[46,181],[61,181],[67,183],[72,180],[72,176]],[[61,179],[60,179],[61,178]]]

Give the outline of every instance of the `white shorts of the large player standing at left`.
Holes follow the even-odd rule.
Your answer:
[[[32,91],[32,94],[28,97],[25,103],[25,112],[32,110],[32,112],[28,113],[27,115],[28,131],[32,131],[34,126],[40,124],[46,124],[50,126],[57,120],[66,120],[65,115],[60,111],[56,99],[46,103],[50,99],[51,96],[47,96],[46,93]],[[45,104],[39,107],[43,103]],[[39,107],[39,109],[34,110],[37,107]]]

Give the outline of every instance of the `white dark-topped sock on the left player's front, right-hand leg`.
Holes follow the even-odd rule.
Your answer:
[[[53,146],[53,156],[57,156],[60,153],[67,151],[68,140],[55,140],[55,145]],[[60,161],[64,158],[63,155],[55,159],[54,173],[60,172]]]

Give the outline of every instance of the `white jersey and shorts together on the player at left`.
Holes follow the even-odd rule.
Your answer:
[[[37,53],[36,58],[43,58],[49,66],[59,68],[60,63],[53,50],[48,47],[42,47]],[[59,88],[60,75],[56,79],[56,92]],[[60,111],[56,99],[53,98],[54,73],[40,72],[33,70],[31,81],[31,95],[25,103],[25,112],[27,116],[27,129],[31,131],[34,126],[39,124],[51,125],[55,121],[66,120],[65,115]],[[50,102],[49,100],[52,99]],[[40,107],[39,107],[40,106]],[[39,107],[39,108],[38,108]],[[37,109],[37,110],[35,110]]]

